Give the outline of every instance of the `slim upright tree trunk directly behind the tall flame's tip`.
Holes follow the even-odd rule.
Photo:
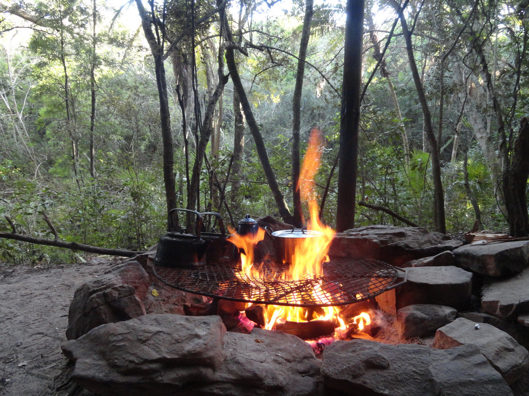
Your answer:
[[[306,0],[305,19],[301,40],[299,41],[296,86],[292,98],[292,195],[294,199],[293,221],[295,227],[303,225],[303,209],[299,191],[299,131],[301,125],[301,95],[303,93],[303,79],[305,77],[305,59],[307,58],[308,40],[311,37],[311,20],[313,15],[313,0]]]

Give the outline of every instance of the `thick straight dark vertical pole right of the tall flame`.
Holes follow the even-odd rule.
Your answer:
[[[340,122],[340,168],[336,230],[354,227],[356,200],[360,86],[362,84],[362,40],[364,0],[347,0],[345,7],[342,111]]]

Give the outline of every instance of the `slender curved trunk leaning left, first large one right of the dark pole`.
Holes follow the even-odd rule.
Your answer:
[[[419,76],[417,64],[415,62],[415,56],[413,53],[412,32],[408,29],[408,24],[404,16],[403,9],[400,8],[400,6],[398,6],[396,3],[393,2],[393,4],[397,10],[397,14],[400,19],[400,24],[402,25],[403,35],[406,41],[406,52],[408,54],[409,67],[412,71],[413,80],[415,82],[415,89],[417,90],[417,96],[419,102],[421,103],[425,133],[431,148],[432,174],[434,186],[433,201],[435,231],[446,233],[446,220],[444,215],[444,195],[443,185],[441,182],[441,162],[439,158],[439,149],[437,147],[437,139],[435,138],[435,133],[433,131],[432,115],[430,113],[430,108],[428,107],[428,102],[424,93],[424,87],[421,82],[421,77]]]

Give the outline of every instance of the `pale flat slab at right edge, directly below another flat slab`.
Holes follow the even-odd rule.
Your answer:
[[[484,285],[481,309],[502,319],[529,313],[529,268],[513,278]]]

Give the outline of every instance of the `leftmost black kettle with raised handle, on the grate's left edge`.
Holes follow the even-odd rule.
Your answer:
[[[200,238],[202,229],[202,215],[189,209],[171,209],[173,211],[185,211],[195,213],[197,216],[196,233],[187,233],[186,229],[180,232],[168,232],[160,238],[154,265],[169,268],[193,269],[206,264],[206,249],[211,241]]]

